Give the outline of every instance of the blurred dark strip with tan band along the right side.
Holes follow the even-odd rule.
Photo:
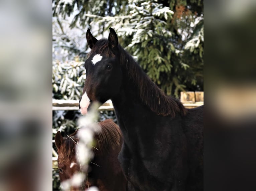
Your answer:
[[[204,8],[204,189],[255,190],[256,1]]]

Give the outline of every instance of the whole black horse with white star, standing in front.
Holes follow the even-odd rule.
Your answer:
[[[203,190],[203,106],[185,109],[166,96],[118,44],[95,39],[85,62],[87,79],[80,110],[91,101],[114,105],[124,143],[118,156],[128,190]]]

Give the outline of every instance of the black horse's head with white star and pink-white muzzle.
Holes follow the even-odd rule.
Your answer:
[[[92,50],[85,61],[86,81],[79,101],[82,114],[87,114],[92,101],[102,104],[116,96],[122,83],[118,38],[114,29],[110,28],[108,39],[100,40],[88,29],[86,39]]]

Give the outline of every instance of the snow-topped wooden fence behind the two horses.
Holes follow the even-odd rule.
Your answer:
[[[194,108],[204,104],[204,92],[181,92],[180,101],[186,108]],[[79,110],[79,100],[52,99],[52,110]],[[111,100],[99,107],[100,111],[114,110]],[[57,169],[57,153],[52,148],[52,168]]]

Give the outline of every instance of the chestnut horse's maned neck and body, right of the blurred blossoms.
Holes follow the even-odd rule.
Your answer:
[[[117,158],[123,143],[121,131],[112,119],[99,125],[101,131],[95,134],[98,149],[94,149],[90,177],[100,191],[125,191],[127,181]]]

